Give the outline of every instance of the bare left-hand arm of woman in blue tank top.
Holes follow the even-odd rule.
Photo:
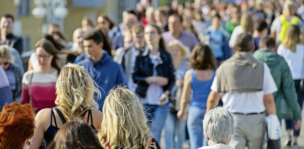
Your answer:
[[[189,97],[191,93],[191,80],[192,80],[191,71],[188,70],[184,77],[184,87],[180,97],[180,109],[177,112],[177,118],[179,119],[183,119],[183,116],[185,114],[185,109],[187,106],[189,106],[191,101]]]

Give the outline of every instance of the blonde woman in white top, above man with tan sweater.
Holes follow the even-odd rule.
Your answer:
[[[234,27],[229,40],[230,48],[233,48],[234,42],[236,40],[236,36],[243,32],[249,32],[253,34],[253,20],[252,20],[252,15],[249,12],[242,14],[240,19],[240,25]]]

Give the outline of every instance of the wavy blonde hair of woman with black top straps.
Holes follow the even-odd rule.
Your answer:
[[[56,82],[55,104],[62,107],[61,112],[69,122],[81,117],[88,109],[98,109],[94,93],[98,99],[100,91],[89,73],[82,66],[67,64]]]

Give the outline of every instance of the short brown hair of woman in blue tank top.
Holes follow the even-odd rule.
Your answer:
[[[195,46],[190,56],[189,67],[198,70],[215,69],[217,61],[212,49],[205,44]]]

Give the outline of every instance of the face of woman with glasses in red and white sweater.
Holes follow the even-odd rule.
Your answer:
[[[42,47],[36,48],[36,58],[40,67],[50,67],[53,56],[47,53]]]

